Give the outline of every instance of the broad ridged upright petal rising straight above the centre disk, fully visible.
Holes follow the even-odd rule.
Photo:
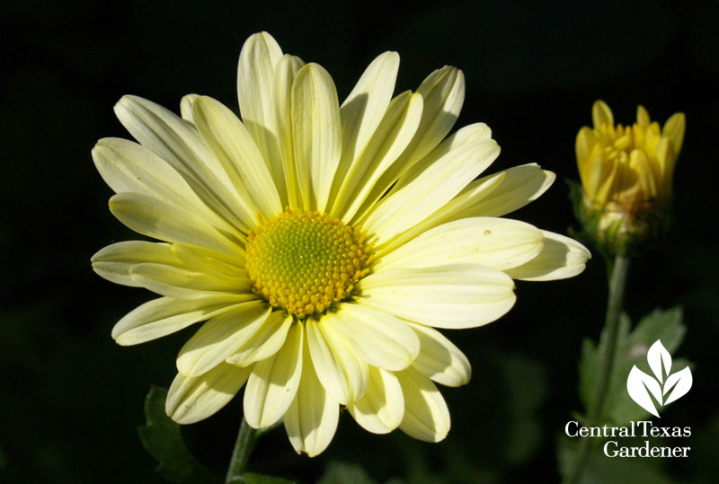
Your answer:
[[[332,77],[317,64],[292,84],[292,137],[305,209],[324,212],[342,152],[340,104]]]

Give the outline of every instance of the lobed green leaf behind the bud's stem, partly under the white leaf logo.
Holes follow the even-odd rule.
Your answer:
[[[629,397],[626,392],[626,378],[634,365],[644,373],[652,374],[646,360],[647,350],[654,341],[661,339],[661,344],[670,353],[673,353],[682,339],[686,328],[682,324],[680,308],[667,311],[659,309],[644,316],[634,331],[630,332],[631,321],[622,314],[617,330],[617,353],[609,381],[608,394],[604,401],[602,423],[624,425],[631,420],[641,420],[649,417],[649,413],[642,409]],[[585,339],[581,348],[580,397],[585,409],[589,409],[596,398],[601,371],[601,354],[607,345],[606,334],[599,338],[599,347],[590,339]],[[672,362],[672,373],[689,365],[687,360],[675,359]]]

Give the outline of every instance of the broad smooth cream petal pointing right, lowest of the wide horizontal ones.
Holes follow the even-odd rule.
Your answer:
[[[481,326],[508,312],[516,299],[510,277],[474,264],[392,268],[359,286],[360,304],[438,328]]]

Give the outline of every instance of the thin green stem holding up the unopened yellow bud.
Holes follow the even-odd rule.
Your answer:
[[[604,320],[604,331],[602,336],[606,338],[606,345],[601,354],[601,368],[599,373],[599,385],[597,393],[587,414],[587,421],[590,425],[598,425],[601,416],[604,400],[607,397],[609,383],[611,382],[612,369],[614,368],[614,360],[617,353],[617,330],[619,328],[619,314],[622,310],[624,302],[624,292],[626,287],[626,274],[629,269],[629,258],[617,255],[613,264],[608,264],[610,271],[609,277],[609,297],[607,301],[607,317]],[[564,483],[574,484],[581,478],[584,466],[587,463],[591,449],[591,439],[581,439],[579,451],[574,458],[572,467],[564,475]]]

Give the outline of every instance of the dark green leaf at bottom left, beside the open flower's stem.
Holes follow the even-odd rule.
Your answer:
[[[156,386],[150,388],[145,399],[146,425],[138,427],[146,451],[160,462],[155,471],[170,482],[218,482],[185,446],[180,426],[164,412],[166,399],[167,390]]]

